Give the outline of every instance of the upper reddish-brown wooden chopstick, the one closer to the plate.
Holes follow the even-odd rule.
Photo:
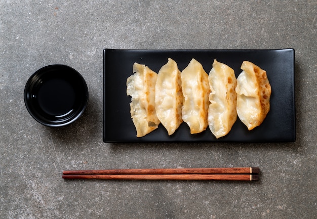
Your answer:
[[[259,167],[65,170],[69,174],[257,174]]]

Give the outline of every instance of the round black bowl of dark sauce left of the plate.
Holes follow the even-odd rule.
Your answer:
[[[88,87],[83,76],[66,65],[49,65],[37,70],[26,82],[24,102],[39,123],[58,127],[80,117],[88,104]]]

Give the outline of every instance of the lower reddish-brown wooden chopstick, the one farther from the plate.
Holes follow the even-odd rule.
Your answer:
[[[255,181],[257,174],[69,174],[63,179],[80,180],[225,180]]]

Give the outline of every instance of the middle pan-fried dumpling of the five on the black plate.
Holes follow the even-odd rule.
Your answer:
[[[201,63],[192,59],[181,72],[181,78],[184,95],[182,119],[188,124],[190,134],[201,133],[208,126],[208,74]]]

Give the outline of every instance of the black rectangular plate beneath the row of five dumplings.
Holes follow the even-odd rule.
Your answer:
[[[249,131],[237,118],[230,133],[216,139],[207,129],[191,135],[188,125],[183,122],[176,132],[168,136],[162,124],[152,133],[137,138],[136,129],[130,116],[131,97],[127,96],[126,81],[132,74],[134,62],[145,64],[159,72],[172,58],[182,71],[194,58],[209,73],[214,59],[222,62],[235,72],[237,77],[244,60],[253,62],[266,70],[272,94],[270,111],[263,123]],[[294,97],[293,49],[279,50],[113,50],[103,53],[104,73],[104,142],[294,142],[295,97]]]

